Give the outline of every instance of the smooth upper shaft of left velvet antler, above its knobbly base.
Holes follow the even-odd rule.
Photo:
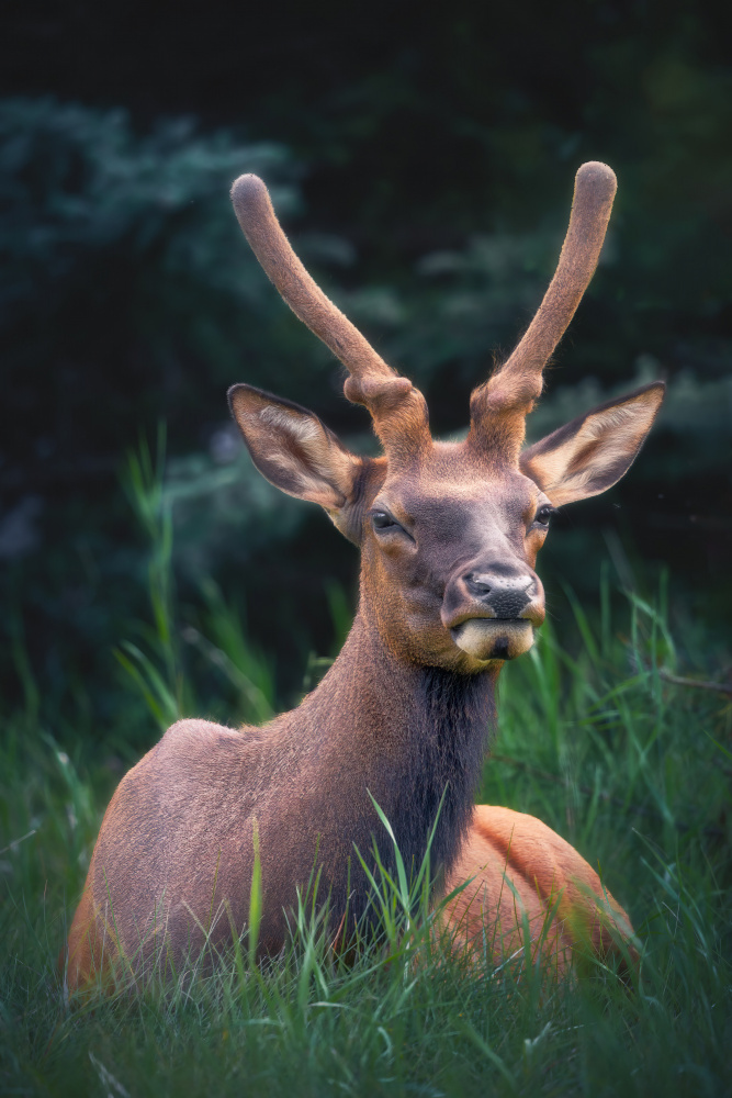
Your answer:
[[[356,379],[395,377],[391,367],[307,273],[277,220],[262,180],[258,176],[239,176],[232,187],[232,201],[252,251],[293,313]]]

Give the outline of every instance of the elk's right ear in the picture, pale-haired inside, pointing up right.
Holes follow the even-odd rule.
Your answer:
[[[558,507],[599,495],[630,469],[665,390],[654,381],[573,419],[521,453],[521,472]]]

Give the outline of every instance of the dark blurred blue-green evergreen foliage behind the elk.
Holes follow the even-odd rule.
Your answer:
[[[628,479],[558,524],[543,573],[561,617],[560,575],[594,597],[608,553],[641,592],[668,568],[682,638],[685,623],[709,624],[691,669],[724,671],[732,70],[719,5],[3,10],[8,703],[27,656],[49,712],[100,725],[119,712],[111,649],[145,616],[147,551],[120,470],[162,419],[190,620],[215,575],[278,653],[285,701],[307,650],[333,645],[326,583],[352,591],[354,554],[256,479],[225,391],[247,380],[301,401],[353,445],[371,445],[368,423],[240,238],[227,189],[245,170],[264,176],[306,264],[449,433],[541,298],[576,167],[616,168],[604,259],[531,429],[655,377],[669,395]]]

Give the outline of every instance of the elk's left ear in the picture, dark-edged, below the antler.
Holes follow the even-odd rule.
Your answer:
[[[314,412],[252,385],[233,385],[228,403],[251,460],[270,484],[328,512],[351,502],[362,459]]]

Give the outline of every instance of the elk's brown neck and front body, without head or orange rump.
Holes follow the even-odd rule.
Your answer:
[[[358,919],[367,881],[353,847],[368,859],[376,836],[383,863],[393,867],[393,847],[369,792],[406,864],[419,865],[450,782],[432,856],[452,863],[482,772],[493,677],[465,682],[451,672],[399,666],[372,650],[357,617],[339,659],[292,713],[263,728],[173,725],[126,775],[106,811],[88,882],[99,931],[82,935],[81,950],[93,938],[99,964],[104,950],[114,955],[117,937],[140,961],[159,952],[162,935],[177,956],[198,954],[204,932],[213,944],[230,941],[232,920],[241,931],[249,917],[255,824],[263,952],[282,946],[284,912],[296,907],[296,889],[307,889],[316,864],[318,894],[329,895],[338,912],[348,900]],[[75,922],[72,943],[82,921]]]

